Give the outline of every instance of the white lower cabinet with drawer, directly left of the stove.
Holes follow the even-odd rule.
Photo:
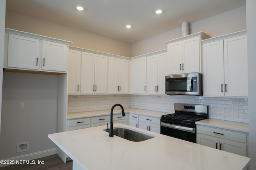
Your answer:
[[[160,133],[160,119],[156,117],[140,115],[139,127],[147,131]]]

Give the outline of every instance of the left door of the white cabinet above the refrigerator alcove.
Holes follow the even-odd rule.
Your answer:
[[[40,40],[9,34],[7,66],[38,69]]]

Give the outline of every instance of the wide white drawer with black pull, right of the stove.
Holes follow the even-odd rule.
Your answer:
[[[246,143],[246,134],[226,129],[197,125],[197,133]]]

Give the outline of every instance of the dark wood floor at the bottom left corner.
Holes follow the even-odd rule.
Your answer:
[[[44,164],[15,164],[2,167],[0,170],[72,170],[72,160],[65,164],[57,154],[35,159],[36,162],[38,162],[38,160],[44,161]]]

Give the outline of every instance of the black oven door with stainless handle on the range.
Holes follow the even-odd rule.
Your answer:
[[[196,143],[196,129],[161,122],[160,133],[185,141]]]

